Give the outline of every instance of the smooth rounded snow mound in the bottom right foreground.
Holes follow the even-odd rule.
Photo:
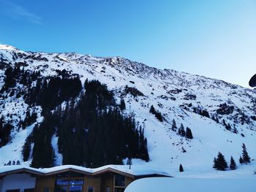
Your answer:
[[[151,177],[136,180],[124,192],[255,192],[256,177],[249,179],[237,178],[170,178]]]

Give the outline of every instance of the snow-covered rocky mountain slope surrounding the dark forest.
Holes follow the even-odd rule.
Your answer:
[[[77,53],[34,53],[0,45],[0,87],[4,86],[5,70],[20,69],[40,72],[40,77],[59,76],[61,72],[78,76],[84,82],[99,80],[115,94],[116,101],[124,99],[125,115],[134,115],[138,126],[143,126],[148,139],[148,163],[133,159],[134,165],[160,166],[170,174],[178,174],[182,164],[189,174],[214,172],[212,161],[221,151],[227,161],[233,155],[236,163],[244,143],[251,158],[256,158],[256,91],[173,69],[156,69],[127,58],[102,58]],[[17,85],[21,86],[21,85]],[[15,88],[12,88],[15,92]],[[162,114],[162,122],[149,112],[151,105]],[[31,107],[23,96],[3,93],[0,116],[15,127],[12,139],[0,148],[0,164],[8,161],[23,162],[21,149],[34,124],[20,128]],[[34,107],[37,122],[43,121],[42,108]],[[179,128],[192,130],[193,139],[186,139],[173,130],[173,119]],[[57,147],[58,137],[52,145],[56,164],[61,164]],[[252,165],[255,165],[252,161]],[[238,166],[236,172],[252,170],[252,166]],[[249,171],[252,172],[252,171]]]

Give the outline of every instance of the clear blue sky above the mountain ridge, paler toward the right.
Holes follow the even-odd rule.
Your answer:
[[[0,43],[122,56],[248,87],[256,0],[0,0]]]

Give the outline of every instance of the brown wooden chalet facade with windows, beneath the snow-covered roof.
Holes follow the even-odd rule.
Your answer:
[[[12,174],[29,174],[36,178],[34,188],[19,192],[123,192],[132,181],[142,177],[166,176],[160,174],[134,175],[113,168],[99,169],[89,172],[83,169],[58,169],[50,172],[39,172],[40,169],[16,169],[10,172],[0,172],[0,183],[4,177]],[[13,180],[15,186],[15,180]],[[3,184],[4,185],[4,184]],[[16,188],[13,188],[16,189]],[[1,191],[9,192],[12,189]],[[16,192],[16,191],[15,191]]]

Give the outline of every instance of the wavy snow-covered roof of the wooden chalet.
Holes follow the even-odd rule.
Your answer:
[[[62,166],[54,166],[51,168],[43,168],[43,169],[36,169],[30,166],[22,166],[22,165],[0,166],[0,177],[3,177],[7,174],[15,174],[15,173],[21,173],[21,172],[46,176],[51,174],[58,174],[61,172],[67,172],[67,171],[79,172],[81,174],[88,174],[91,176],[110,172],[110,173],[116,173],[116,174],[123,174],[124,176],[127,176],[127,177],[146,177],[147,175],[170,177],[170,175],[165,172],[145,169],[145,166],[143,167],[132,166],[132,169],[129,169],[129,166],[125,166],[125,165],[107,165],[107,166],[101,166],[94,169],[86,168],[83,166],[75,166],[75,165],[62,165]]]

